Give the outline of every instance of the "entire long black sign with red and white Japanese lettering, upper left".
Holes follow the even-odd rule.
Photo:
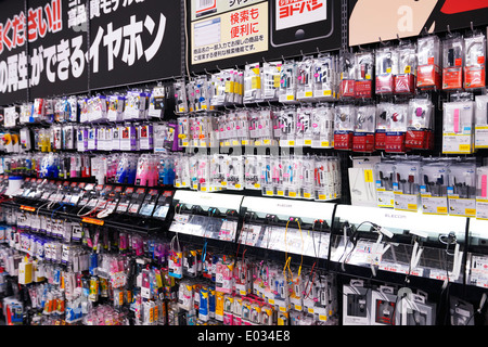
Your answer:
[[[181,75],[180,7],[180,0],[2,2],[0,105]]]

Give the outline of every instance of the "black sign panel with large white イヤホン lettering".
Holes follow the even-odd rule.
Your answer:
[[[90,9],[91,89],[181,75],[180,0],[91,2],[100,2]]]

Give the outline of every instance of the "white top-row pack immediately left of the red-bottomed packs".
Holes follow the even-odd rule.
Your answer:
[[[337,97],[337,56],[319,54],[313,61],[313,99],[335,100]]]

